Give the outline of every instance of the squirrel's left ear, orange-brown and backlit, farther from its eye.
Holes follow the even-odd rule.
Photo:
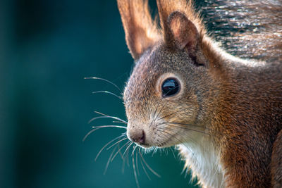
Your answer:
[[[118,0],[118,10],[121,13],[126,44],[130,54],[137,60],[161,35],[149,13],[147,0]]]

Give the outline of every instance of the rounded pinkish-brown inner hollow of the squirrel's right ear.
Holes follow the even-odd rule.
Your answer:
[[[185,14],[175,11],[168,17],[168,27],[173,41],[179,49],[195,51],[199,43],[200,35],[196,26],[186,17]],[[169,38],[169,37],[168,37]]]

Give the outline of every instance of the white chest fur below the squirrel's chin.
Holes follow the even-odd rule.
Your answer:
[[[219,156],[211,142],[201,140],[179,144],[178,149],[185,158],[185,168],[192,170],[192,177],[196,176],[202,187],[224,187]]]

